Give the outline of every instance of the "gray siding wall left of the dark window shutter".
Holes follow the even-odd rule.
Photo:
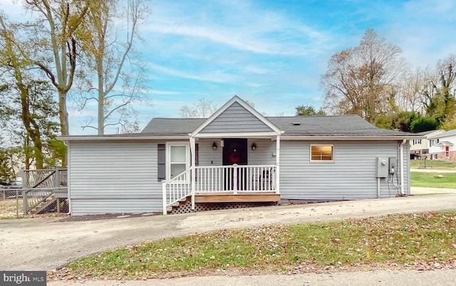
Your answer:
[[[162,211],[157,142],[71,142],[71,214]]]

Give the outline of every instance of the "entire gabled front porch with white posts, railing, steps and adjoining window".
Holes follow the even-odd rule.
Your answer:
[[[278,202],[283,132],[233,97],[188,133],[188,145],[167,142],[163,213],[187,197],[192,210],[195,203]]]

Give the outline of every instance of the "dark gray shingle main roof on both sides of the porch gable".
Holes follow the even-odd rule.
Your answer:
[[[358,115],[266,117],[284,136],[410,136],[407,132],[380,129]],[[142,134],[187,135],[204,118],[154,118]]]

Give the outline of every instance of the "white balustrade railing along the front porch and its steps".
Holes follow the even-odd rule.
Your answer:
[[[187,169],[175,178],[162,182],[164,214],[168,206],[196,193],[274,192],[279,194],[276,187],[275,165],[196,166],[194,190],[192,190],[191,171],[192,168]]]

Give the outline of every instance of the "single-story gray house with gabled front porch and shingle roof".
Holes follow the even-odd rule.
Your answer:
[[[264,117],[235,96],[207,119],[63,137],[72,215],[410,194],[409,139],[356,115]]]

